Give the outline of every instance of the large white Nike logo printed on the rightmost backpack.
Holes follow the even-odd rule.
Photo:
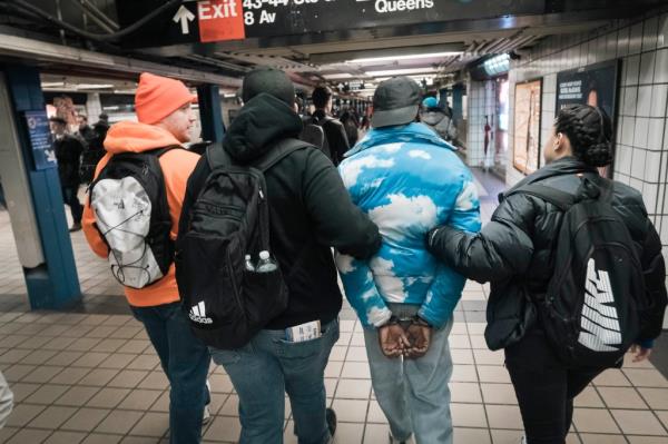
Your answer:
[[[619,317],[608,272],[596,269],[593,258],[587,264],[584,304],[578,342],[595,352],[617,352],[621,346]]]

